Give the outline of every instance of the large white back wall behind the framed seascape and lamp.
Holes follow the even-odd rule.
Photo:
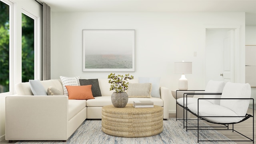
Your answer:
[[[110,72],[82,71],[83,29],[134,29],[136,36],[135,77],[161,77],[161,86],[178,89],[180,74],[174,62],[190,61],[193,74],[187,74],[189,89],[204,88],[203,62],[206,25],[240,26],[241,60],[244,62],[244,13],[169,13],[169,12],[52,12],[51,76],[107,78]],[[197,56],[194,56],[194,52]],[[240,64],[244,70],[244,64]],[[244,81],[244,72],[240,72]],[[170,93],[170,112],[175,99]]]

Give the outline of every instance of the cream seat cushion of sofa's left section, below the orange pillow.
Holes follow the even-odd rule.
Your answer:
[[[86,100],[68,100],[68,120],[86,107]]]

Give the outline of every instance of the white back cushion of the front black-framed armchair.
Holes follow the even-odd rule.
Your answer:
[[[239,84],[227,82],[222,92],[221,98],[250,98],[250,84]],[[238,116],[245,116],[250,100],[220,100],[220,105],[236,112]]]

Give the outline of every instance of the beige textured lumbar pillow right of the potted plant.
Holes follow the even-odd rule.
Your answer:
[[[151,83],[129,83],[127,94],[129,98],[151,98]]]

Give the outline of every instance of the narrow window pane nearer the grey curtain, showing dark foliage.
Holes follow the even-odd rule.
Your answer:
[[[34,79],[34,19],[22,13],[22,82]]]

